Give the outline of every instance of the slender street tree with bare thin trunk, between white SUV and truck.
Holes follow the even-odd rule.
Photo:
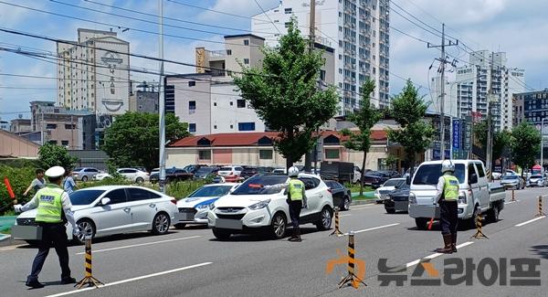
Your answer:
[[[342,144],[344,147],[364,153],[364,160],[362,161],[362,176],[365,172],[365,160],[367,153],[371,148],[371,128],[378,122],[383,112],[374,108],[371,105],[371,93],[374,91],[374,80],[365,80],[362,85],[362,98],[360,99],[360,108],[346,116],[349,122],[353,122],[358,131],[350,131],[345,129],[342,131],[343,135],[349,136],[349,139]],[[360,195],[364,195],[364,178],[360,179]]]

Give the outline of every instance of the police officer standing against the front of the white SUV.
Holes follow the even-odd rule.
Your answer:
[[[293,235],[291,235],[289,240],[300,242],[300,209],[306,207],[304,183],[297,178],[299,176],[299,168],[295,166],[290,167],[288,175],[290,175],[290,181],[288,183],[288,203],[290,205],[291,223],[293,224]]]

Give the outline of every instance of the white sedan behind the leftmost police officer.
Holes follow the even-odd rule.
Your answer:
[[[178,217],[174,197],[141,186],[93,186],[77,190],[69,197],[81,230],[81,235],[74,238],[79,243],[83,243],[86,236],[100,238],[146,230],[165,234]],[[19,215],[13,237],[30,242],[37,240],[36,236],[29,236],[29,228],[37,228],[36,216],[36,208]],[[73,239],[70,224],[67,235]]]

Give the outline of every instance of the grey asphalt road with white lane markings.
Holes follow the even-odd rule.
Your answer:
[[[346,253],[348,242],[347,237],[330,237],[332,230],[318,232],[311,225],[305,226],[300,243],[248,235],[222,242],[211,230],[196,227],[164,236],[143,232],[98,239],[93,244],[93,274],[106,284],[100,289],[76,291],[71,285],[61,285],[58,259],[52,249],[40,274],[40,281],[47,286],[27,290],[26,275],[37,250],[27,246],[0,249],[0,296],[546,296],[548,219],[529,221],[538,212],[536,196],[547,192],[545,188],[516,191],[518,201],[507,202],[501,220],[483,227],[489,239],[469,239],[476,230],[462,229],[458,233],[460,248],[452,255],[433,252],[442,245],[436,223],[432,230],[416,230],[408,215],[388,215],[381,205],[342,212],[341,229],[356,232],[356,258],[365,262],[367,286],[358,289],[338,289],[346,265],[326,273],[327,262],[340,258],[338,250]],[[548,198],[544,204],[548,207]],[[70,267],[77,279],[83,277],[83,251],[83,246],[69,248]],[[514,281],[527,279],[515,275],[512,263],[520,258],[540,261],[536,266],[540,277],[529,278],[540,281],[540,286],[516,285]],[[389,267],[406,267],[406,271],[379,272],[380,259],[386,259]],[[463,279],[460,284],[448,284],[447,269],[457,267],[448,261],[466,263],[467,259],[463,270],[469,272],[451,279],[468,278],[469,283]],[[430,264],[419,260],[429,260]],[[492,274],[492,267],[498,272]],[[381,285],[379,277],[394,275],[406,278],[402,286],[396,286],[395,281]],[[419,286],[415,281],[440,284]]]

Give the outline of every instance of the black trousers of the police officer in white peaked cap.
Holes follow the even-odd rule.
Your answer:
[[[68,268],[68,238],[67,228],[64,223],[59,224],[41,224],[42,240],[38,243],[38,253],[32,262],[32,271],[26,278],[27,281],[37,281],[38,274],[44,266],[49,249],[53,247],[58,254],[59,265],[61,266],[61,279],[70,277]]]

